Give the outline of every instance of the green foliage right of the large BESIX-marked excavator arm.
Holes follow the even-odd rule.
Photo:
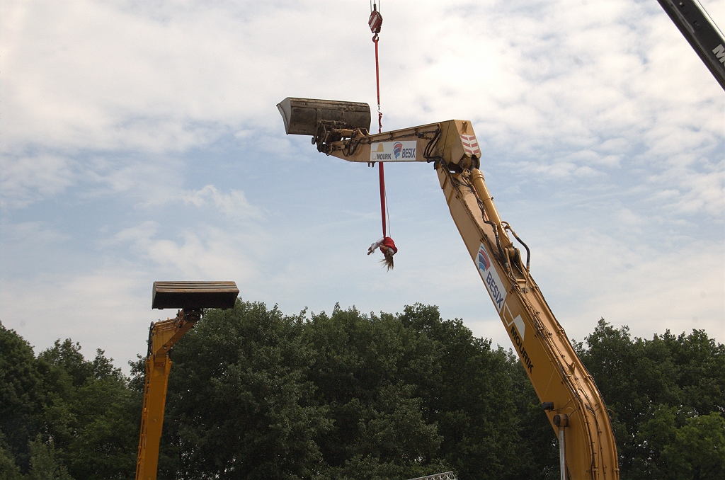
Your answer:
[[[632,339],[604,319],[586,342],[622,479],[725,479],[725,345],[702,330]]]

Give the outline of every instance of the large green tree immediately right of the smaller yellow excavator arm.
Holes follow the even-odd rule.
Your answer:
[[[302,320],[238,302],[212,310],[171,353],[164,423],[166,478],[309,478],[329,429],[305,378]],[[176,452],[176,455],[173,453]],[[160,477],[161,475],[159,475]]]

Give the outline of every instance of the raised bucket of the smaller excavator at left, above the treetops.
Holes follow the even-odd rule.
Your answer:
[[[233,308],[233,281],[154,281],[152,308]]]

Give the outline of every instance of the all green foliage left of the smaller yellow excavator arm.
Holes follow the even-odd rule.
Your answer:
[[[0,395],[0,479],[133,478],[141,395],[102,350],[88,361],[67,339],[36,357],[0,324]]]

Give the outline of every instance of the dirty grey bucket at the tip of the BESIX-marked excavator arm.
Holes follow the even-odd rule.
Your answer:
[[[334,128],[370,130],[370,105],[334,100],[287,97],[277,104],[287,135],[315,136],[318,124],[334,123]]]

